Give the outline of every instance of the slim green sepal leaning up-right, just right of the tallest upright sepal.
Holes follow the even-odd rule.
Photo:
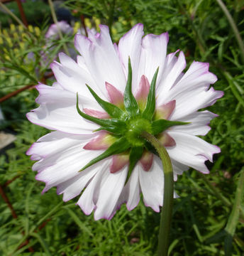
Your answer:
[[[145,106],[145,110],[143,110],[143,117],[146,119],[151,120],[153,118],[153,114],[155,111],[155,87],[156,87],[156,81],[157,81],[157,73],[158,73],[159,68],[155,71],[155,74],[153,75],[153,80],[150,85],[150,90],[148,93],[148,99],[147,99],[147,104]]]

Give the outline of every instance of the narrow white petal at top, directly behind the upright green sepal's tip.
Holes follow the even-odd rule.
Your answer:
[[[140,50],[143,34],[143,24],[138,23],[118,42],[118,54],[121,58],[126,78],[128,76],[128,58],[131,58],[133,92],[135,92],[135,88],[139,85],[140,81],[140,78],[138,78],[138,67],[140,63]]]

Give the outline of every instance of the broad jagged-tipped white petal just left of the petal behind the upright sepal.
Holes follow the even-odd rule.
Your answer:
[[[101,89],[104,97],[107,97],[105,82],[123,91],[126,78],[113,48],[109,28],[100,26],[100,30],[101,33],[97,33],[96,36],[89,33],[89,38],[82,35],[75,36],[74,45],[83,56],[89,73],[96,82],[96,87]]]

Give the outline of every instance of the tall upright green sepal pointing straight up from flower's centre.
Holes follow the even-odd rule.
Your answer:
[[[126,111],[130,117],[134,117],[139,113],[138,102],[135,100],[135,97],[131,91],[132,83],[132,68],[131,68],[131,59],[128,59],[128,79],[126,83],[126,89],[123,95],[123,105],[125,106]]]

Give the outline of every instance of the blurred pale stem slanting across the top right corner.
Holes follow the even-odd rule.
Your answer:
[[[239,45],[240,48],[240,54],[241,54],[241,58],[243,60],[244,63],[244,43],[242,38],[240,37],[240,33],[238,31],[237,26],[235,25],[235,21],[233,20],[231,14],[229,13],[228,9],[226,8],[226,6],[223,4],[223,1],[221,0],[216,0],[218,2],[218,5],[221,6],[221,9],[223,11],[223,13],[226,15],[226,18],[228,19],[228,22],[231,25],[231,28],[233,30],[233,33],[235,35],[236,41]]]

